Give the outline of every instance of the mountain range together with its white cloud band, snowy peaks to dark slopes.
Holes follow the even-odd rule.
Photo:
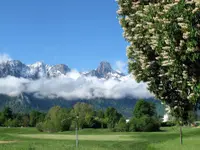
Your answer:
[[[36,62],[26,65],[9,60],[0,63],[0,110],[9,106],[14,112],[48,111],[55,105],[71,108],[77,102],[86,102],[96,109],[115,107],[125,116],[131,116],[142,94],[155,102],[145,92],[145,85],[131,78],[130,74],[112,69],[108,62],[101,62],[91,71],[77,72],[64,64],[52,66]]]

